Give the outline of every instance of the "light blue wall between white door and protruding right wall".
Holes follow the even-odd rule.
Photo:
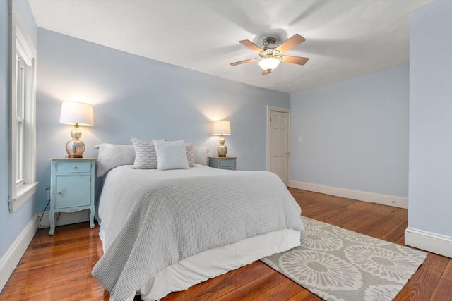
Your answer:
[[[291,180],[407,197],[408,69],[292,94]]]

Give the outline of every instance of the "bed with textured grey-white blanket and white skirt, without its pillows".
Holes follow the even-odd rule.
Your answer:
[[[300,244],[301,209],[278,176],[192,166],[108,171],[93,276],[110,300],[159,300]]]

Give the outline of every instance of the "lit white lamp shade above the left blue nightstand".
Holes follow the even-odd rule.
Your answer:
[[[84,126],[93,126],[93,106],[83,102],[63,102],[59,123]]]

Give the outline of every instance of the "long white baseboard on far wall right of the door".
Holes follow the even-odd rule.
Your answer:
[[[408,209],[408,197],[399,197],[397,195],[383,195],[374,192],[365,192],[351,190],[346,188],[337,188],[320,184],[312,184],[299,181],[290,181],[290,187],[313,192],[320,192],[326,195],[335,195],[337,197],[347,197],[347,199],[357,199],[359,201],[383,204],[393,207]]]

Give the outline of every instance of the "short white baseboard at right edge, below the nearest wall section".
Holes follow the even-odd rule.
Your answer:
[[[452,237],[423,231],[405,229],[405,245],[452,258]]]

